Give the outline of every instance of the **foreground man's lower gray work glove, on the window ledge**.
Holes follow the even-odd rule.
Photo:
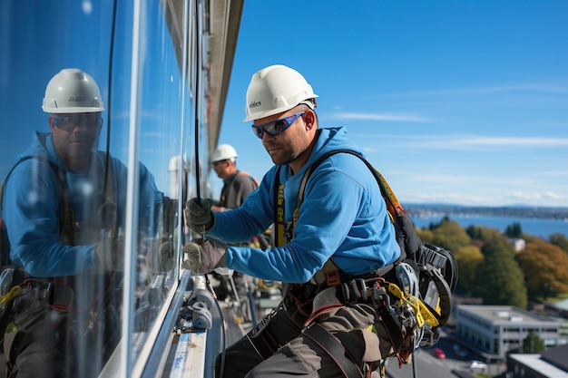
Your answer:
[[[216,267],[225,267],[227,245],[216,239],[195,240],[183,246],[186,259],[181,267],[193,273],[210,273]]]

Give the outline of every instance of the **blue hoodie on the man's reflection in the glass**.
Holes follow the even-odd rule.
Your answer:
[[[96,196],[103,187],[106,155],[93,151],[88,172],[75,172],[64,165],[54,151],[50,133],[35,132],[32,146],[16,158],[38,156],[54,162],[65,172],[74,220],[78,225],[92,225],[98,208]],[[122,228],[126,210],[127,169],[120,160],[110,159],[113,172],[113,194],[117,212],[117,227]],[[152,232],[157,226],[157,206],[162,193],[156,189],[152,174],[140,165],[139,228]],[[5,181],[3,218],[12,250],[10,257],[16,266],[35,277],[71,276],[95,267],[93,243],[65,245],[60,237],[59,182],[55,171],[44,161],[29,159],[20,162]],[[100,230],[93,230],[99,233]]]

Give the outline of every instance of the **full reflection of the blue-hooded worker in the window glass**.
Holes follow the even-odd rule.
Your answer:
[[[17,276],[27,277],[7,315],[7,375],[91,377],[120,337],[126,167],[97,141],[96,82],[64,69],[47,84],[49,133],[37,131],[5,181],[3,215]],[[108,158],[108,160],[107,160]],[[140,228],[154,228],[162,194],[140,166]],[[7,325],[7,327],[6,327]]]

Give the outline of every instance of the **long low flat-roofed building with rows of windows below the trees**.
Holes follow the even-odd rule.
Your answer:
[[[559,344],[560,323],[512,305],[457,305],[455,337],[487,361],[504,360],[533,331],[546,347]]]

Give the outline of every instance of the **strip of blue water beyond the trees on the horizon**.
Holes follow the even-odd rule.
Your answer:
[[[412,217],[412,214],[410,214]],[[412,217],[412,221],[416,228],[428,228],[430,223],[439,223],[444,216],[436,217]],[[495,228],[501,232],[507,226],[518,223],[521,225],[521,230],[525,234],[533,235],[535,237],[544,237],[548,239],[551,234],[560,233],[568,237],[568,221],[562,219],[542,219],[542,218],[511,218],[511,217],[485,217],[485,216],[447,216],[450,220],[454,220],[461,227],[468,228],[469,226],[478,226],[485,228]]]

